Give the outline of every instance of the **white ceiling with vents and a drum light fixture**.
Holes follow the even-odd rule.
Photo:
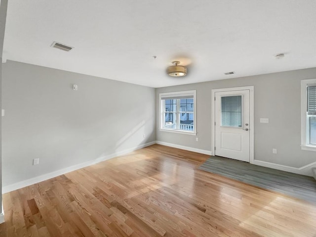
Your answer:
[[[312,68],[316,1],[9,0],[3,47],[8,60],[151,87]],[[174,60],[186,77],[166,75]]]

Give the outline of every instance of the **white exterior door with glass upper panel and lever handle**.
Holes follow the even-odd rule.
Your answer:
[[[250,161],[250,91],[215,92],[215,155]]]

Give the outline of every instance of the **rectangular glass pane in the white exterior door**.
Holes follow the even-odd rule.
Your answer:
[[[241,127],[241,95],[223,96],[221,99],[221,126]]]

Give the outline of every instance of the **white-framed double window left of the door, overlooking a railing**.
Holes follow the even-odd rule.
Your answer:
[[[196,90],[160,93],[160,130],[196,135]]]

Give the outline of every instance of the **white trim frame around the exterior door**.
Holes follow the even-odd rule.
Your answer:
[[[254,86],[228,87],[212,89],[211,103],[211,136],[212,136],[212,155],[215,155],[215,92],[249,90],[249,163],[253,164],[254,160]]]

